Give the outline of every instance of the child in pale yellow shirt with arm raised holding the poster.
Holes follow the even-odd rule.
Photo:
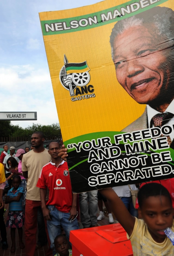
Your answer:
[[[166,188],[158,183],[146,184],[140,188],[140,219],[128,212],[112,188],[101,189],[100,193],[107,198],[115,217],[126,230],[134,256],[174,255],[174,246],[164,233],[166,228],[171,228],[174,232],[172,201]]]

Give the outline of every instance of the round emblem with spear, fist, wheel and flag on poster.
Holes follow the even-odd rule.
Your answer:
[[[90,71],[90,68],[88,67],[86,61],[81,63],[68,63],[65,55],[64,63],[65,65],[61,68],[59,74],[60,82],[63,87],[69,91],[70,96],[75,96],[74,90],[77,86],[82,87],[89,83],[90,74],[88,71]]]

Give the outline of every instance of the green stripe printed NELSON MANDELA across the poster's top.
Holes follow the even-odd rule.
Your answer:
[[[96,28],[147,11],[168,0],[131,0],[129,2],[83,16],[59,20],[41,20],[43,36],[71,33]]]

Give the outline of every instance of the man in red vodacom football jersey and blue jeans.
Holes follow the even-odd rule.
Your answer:
[[[67,162],[58,156],[59,149],[58,142],[49,144],[51,162],[43,166],[36,185],[40,188],[43,217],[47,220],[53,255],[56,254],[54,238],[61,234],[61,226],[68,240],[70,231],[79,228],[76,219],[77,194],[72,193]],[[46,203],[47,188],[49,199]]]

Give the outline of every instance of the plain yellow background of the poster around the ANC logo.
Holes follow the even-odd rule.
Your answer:
[[[119,3],[118,3],[119,2]],[[71,10],[43,12],[40,20],[57,20],[99,12],[125,0],[106,0]],[[169,0],[159,6],[174,9]],[[63,140],[92,132],[121,131],[142,115],[145,105],[138,104],[116,79],[109,43],[115,21],[97,28],[71,33],[43,36],[51,74]],[[68,30],[67,30],[68,31]],[[95,98],[72,101],[69,91],[60,83],[59,73],[64,65],[87,61]],[[80,95],[78,95],[80,96]]]

